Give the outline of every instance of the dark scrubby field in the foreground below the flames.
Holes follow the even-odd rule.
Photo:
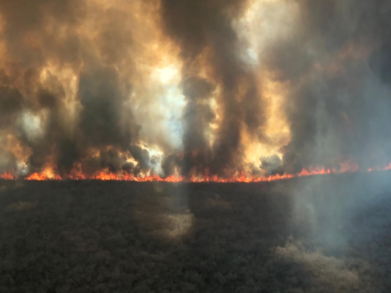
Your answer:
[[[390,292],[390,176],[0,181],[0,292]]]

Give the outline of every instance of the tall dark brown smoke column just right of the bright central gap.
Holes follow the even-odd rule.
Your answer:
[[[251,72],[246,70],[239,59],[240,43],[231,25],[231,20],[238,16],[246,5],[247,1],[162,1],[162,15],[167,33],[181,46],[183,75],[190,75],[187,82],[198,80],[193,73],[194,70],[197,71],[197,68],[193,68],[194,63],[203,50],[207,49],[208,66],[211,67],[215,81],[221,86],[219,104],[223,111],[222,126],[212,152],[208,151],[204,143],[204,130],[208,128],[207,122],[213,118],[209,114],[210,110],[208,107],[199,109],[199,106],[196,110],[191,96],[197,94],[189,93],[187,87],[183,89],[184,95],[190,99],[185,113],[185,118],[188,119],[184,135],[185,153],[204,146],[203,149],[195,151],[195,155],[185,157],[185,174],[190,171],[190,167],[201,172],[210,168],[212,173],[219,174],[226,168],[237,168],[242,156],[239,151],[242,127],[246,125],[256,130],[262,125],[260,96]],[[240,85],[247,88],[244,96],[239,96]],[[201,89],[203,86],[205,84],[193,85],[198,87],[197,91],[206,92]],[[194,122],[198,127],[191,126]]]

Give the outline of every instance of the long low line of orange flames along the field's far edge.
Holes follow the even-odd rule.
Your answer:
[[[296,174],[276,174],[269,176],[249,176],[242,172],[232,177],[220,177],[218,175],[210,175],[209,170],[205,170],[205,175],[200,177],[183,177],[180,175],[170,175],[168,177],[160,177],[159,175],[133,175],[129,173],[113,173],[108,170],[102,170],[95,173],[94,175],[86,175],[82,172],[81,166],[76,166],[70,172],[70,174],[61,177],[55,174],[52,169],[45,169],[43,172],[34,172],[25,180],[122,180],[122,181],[136,181],[136,182],[216,182],[216,183],[232,183],[232,182],[270,182],[276,180],[291,179],[294,177],[312,176],[312,175],[325,175],[325,174],[339,174],[339,173],[356,173],[359,172],[357,164],[348,165],[341,164],[340,170],[326,169],[326,168],[303,168],[300,173]],[[391,170],[391,162],[382,167],[373,167],[366,170],[367,172]],[[3,180],[14,180],[17,177],[11,172],[0,174],[0,179]]]

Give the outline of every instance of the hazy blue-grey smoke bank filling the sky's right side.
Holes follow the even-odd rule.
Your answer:
[[[292,84],[285,112],[291,142],[287,172],[333,167],[348,157],[359,166],[391,157],[388,1],[297,1],[295,33],[268,51],[275,77]]]

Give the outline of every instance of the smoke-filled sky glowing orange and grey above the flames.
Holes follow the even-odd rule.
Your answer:
[[[256,5],[287,3],[0,1],[0,172],[230,176],[388,164],[391,4],[289,2],[296,12],[275,26],[292,19],[289,33],[251,36],[262,50],[249,62],[252,40],[237,23]],[[170,79],[151,76],[170,62],[178,77],[163,91]],[[266,74],[286,89],[283,145],[267,133]],[[255,162],[249,141],[265,153]]]

